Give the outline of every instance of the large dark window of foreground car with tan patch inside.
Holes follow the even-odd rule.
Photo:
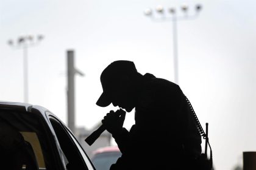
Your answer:
[[[0,110],[1,169],[58,169],[54,152],[38,115]]]

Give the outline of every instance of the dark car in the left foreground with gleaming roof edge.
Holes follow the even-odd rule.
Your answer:
[[[95,170],[73,132],[48,109],[0,102],[1,169]]]

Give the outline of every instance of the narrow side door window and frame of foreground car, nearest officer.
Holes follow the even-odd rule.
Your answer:
[[[46,112],[46,115],[51,123],[54,133],[59,141],[63,159],[65,161],[66,169],[75,170],[75,169],[88,169],[94,170],[90,159],[87,154],[84,152],[84,149],[77,142],[73,133],[65,126],[59,118],[50,112]]]

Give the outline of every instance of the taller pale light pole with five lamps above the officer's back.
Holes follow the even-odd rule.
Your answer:
[[[173,58],[174,58],[174,83],[179,84],[179,62],[178,62],[178,44],[177,44],[177,21],[185,20],[185,19],[195,19],[199,12],[202,9],[202,6],[197,4],[194,8],[194,13],[192,15],[188,14],[188,5],[182,5],[181,11],[183,13],[182,16],[177,15],[177,10],[175,8],[169,8],[167,11],[163,8],[162,5],[158,5],[155,8],[154,15],[151,9],[146,9],[144,14],[149,16],[152,21],[172,21],[172,43],[173,43]]]

